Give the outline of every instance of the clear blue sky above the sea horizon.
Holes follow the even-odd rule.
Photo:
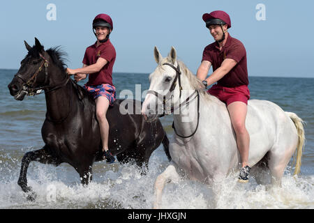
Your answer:
[[[56,6],[56,20],[47,20],[49,3]],[[259,3],[265,6],[265,20],[256,19]],[[96,40],[91,22],[107,13],[114,22],[114,72],[152,72],[156,45],[163,56],[174,46],[195,73],[204,47],[213,42],[202,15],[225,10],[231,36],[246,47],[250,76],[314,77],[313,8],[310,0],[2,1],[0,68],[19,68],[27,53],[23,40],[33,45],[34,37],[45,49],[61,45],[68,67],[81,67],[86,47]]]

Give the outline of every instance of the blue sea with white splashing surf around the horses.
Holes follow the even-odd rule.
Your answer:
[[[36,192],[35,201],[17,185],[24,153],[43,147],[41,126],[45,120],[45,95],[15,100],[8,84],[17,70],[0,70],[0,208],[1,209],[150,209],[154,203],[154,181],[168,160],[159,146],[151,155],[146,175],[135,164],[94,163],[93,181],[84,187],[69,164],[54,167],[31,162],[28,184]],[[115,72],[117,98],[130,95],[144,100],[149,74]],[[314,78],[249,77],[251,99],[270,100],[305,122],[306,144],[301,173],[292,176],[292,160],[285,169],[281,187],[237,183],[237,173],[220,185],[182,178],[163,191],[165,209],[313,209],[314,208]],[[84,81],[80,82],[84,84]],[[160,118],[172,137],[172,116]],[[104,216],[105,217],[105,216]]]

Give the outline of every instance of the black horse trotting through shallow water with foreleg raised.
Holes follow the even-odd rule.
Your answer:
[[[32,192],[27,186],[31,161],[56,167],[66,162],[80,174],[82,184],[87,185],[92,178],[93,163],[102,160],[94,99],[66,74],[63,53],[58,47],[45,51],[37,38],[33,47],[24,43],[28,54],[8,89],[15,100],[45,91],[47,112],[41,129],[45,146],[24,155],[18,185],[24,192]],[[141,102],[135,100],[116,100],[108,109],[109,148],[119,162],[133,159],[138,166],[147,167],[151,153],[161,142],[170,157],[169,141],[160,121],[144,121],[140,107]]]

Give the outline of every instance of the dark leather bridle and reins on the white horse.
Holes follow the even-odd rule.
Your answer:
[[[170,109],[167,109],[166,102],[173,97],[172,91],[174,91],[175,87],[177,86],[177,81],[179,82],[179,92],[180,92],[179,98],[180,99],[181,99],[181,91],[182,91],[181,70],[180,70],[179,64],[178,64],[177,68],[175,66],[173,66],[172,64],[170,64],[170,63],[163,63],[163,65],[170,66],[172,69],[174,69],[176,71],[176,76],[174,77],[174,80],[173,80],[173,82],[172,82],[172,84],[170,86],[169,92],[166,95],[162,95],[162,94],[158,93],[157,91],[152,91],[152,90],[147,91],[147,93],[154,94],[154,95],[156,95],[157,98],[159,98],[160,100],[163,100],[163,114],[160,117],[163,117],[163,116],[165,116],[167,114],[172,114],[172,112],[174,112],[174,106],[172,105],[170,107]],[[200,93],[197,90],[195,90],[190,96],[188,96],[188,98],[186,98],[186,100],[184,100],[184,102],[181,102],[179,104],[179,109],[181,109],[181,107],[184,106],[184,105],[188,105],[188,103],[190,102],[190,98],[192,98],[192,96],[195,93],[197,94],[194,97],[194,98],[197,97],[197,125],[196,125],[196,128],[195,128],[195,131],[192,134],[188,135],[188,136],[182,136],[182,135],[178,134],[176,128],[174,128],[174,122],[172,123],[172,128],[174,129],[174,132],[177,134],[177,136],[179,136],[181,138],[193,137],[193,135],[197,131],[198,123],[200,122]]]

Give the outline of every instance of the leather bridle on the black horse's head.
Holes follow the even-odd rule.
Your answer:
[[[47,59],[45,59],[45,57],[42,54],[39,54],[39,56],[41,59],[43,59],[43,61],[41,61],[39,68],[36,70],[36,72],[34,72],[34,74],[29,79],[27,79],[27,80],[24,79],[24,77],[22,77],[22,75],[18,72],[15,75],[15,77],[22,79],[22,82],[24,82],[22,84],[22,86],[23,86],[22,91],[24,91],[24,93],[26,93],[29,96],[38,95],[40,93],[43,93],[43,91],[42,91],[43,89],[44,90],[47,89],[47,91],[45,91],[45,93],[47,93],[49,91],[57,90],[57,89],[61,88],[62,86],[65,86],[70,79],[70,77],[68,77],[68,75],[66,75],[65,82],[62,82],[61,84],[57,84],[55,86],[47,85],[49,62],[47,61]],[[33,83],[36,82],[37,76],[38,76],[39,72],[43,69],[43,66],[45,67],[45,81],[43,83],[44,86],[41,86],[38,88],[33,88]]]

